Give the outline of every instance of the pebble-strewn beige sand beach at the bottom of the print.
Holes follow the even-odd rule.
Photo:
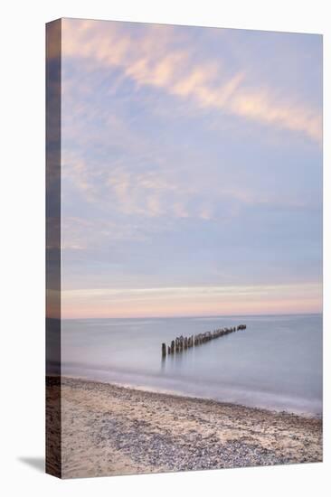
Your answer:
[[[70,378],[61,413],[62,478],[322,461],[318,418]]]

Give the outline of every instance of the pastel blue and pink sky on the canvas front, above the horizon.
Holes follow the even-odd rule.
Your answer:
[[[62,316],[322,310],[322,37],[62,21]]]

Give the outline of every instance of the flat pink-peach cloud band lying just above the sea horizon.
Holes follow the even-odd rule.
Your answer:
[[[65,317],[320,312],[320,284],[81,288],[62,291]]]

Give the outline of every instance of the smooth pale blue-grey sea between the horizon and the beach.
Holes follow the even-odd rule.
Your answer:
[[[241,323],[245,331],[161,358],[161,342]],[[64,320],[61,346],[64,375],[322,412],[321,315]]]

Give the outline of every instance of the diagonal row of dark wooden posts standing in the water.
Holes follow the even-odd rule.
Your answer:
[[[165,357],[166,354],[172,355],[175,353],[184,352],[187,349],[197,347],[202,343],[210,342],[215,338],[219,338],[220,336],[237,332],[239,330],[246,330],[246,324],[239,324],[238,326],[232,326],[231,328],[221,328],[219,330],[214,330],[213,332],[198,333],[191,336],[177,336],[175,340],[170,343],[170,345],[162,343],[162,357]]]

